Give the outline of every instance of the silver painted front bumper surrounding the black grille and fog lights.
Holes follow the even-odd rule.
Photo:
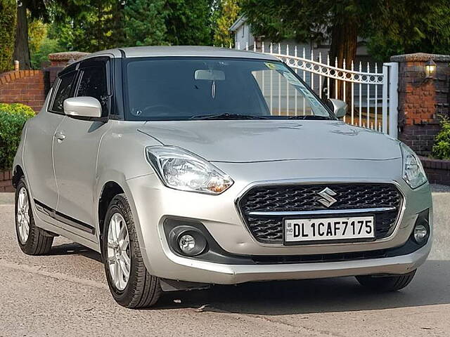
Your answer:
[[[169,248],[164,232],[164,223],[167,218],[195,220],[202,223],[221,249],[240,256],[307,256],[318,253],[375,251],[402,246],[411,235],[418,213],[430,209],[430,214],[432,214],[429,185],[426,184],[417,190],[411,190],[401,178],[396,176],[401,167],[401,159],[381,161],[376,165],[371,161],[349,162],[349,160],[333,161],[333,163],[321,161],[322,164],[325,164],[321,165],[321,170],[317,170],[317,162],[313,160],[301,161],[301,166],[299,166],[299,161],[254,164],[221,163],[218,166],[233,177],[235,184],[218,196],[169,189],[163,186],[158,177],[153,174],[127,180],[127,196],[131,201],[139,243],[148,271],[152,275],[165,279],[236,284],[273,279],[404,274],[416,269],[425,261],[430,252],[431,236],[428,244],[406,255],[320,263],[266,265],[216,263],[179,256]],[[357,165],[359,168],[352,178],[348,177],[349,164]],[[368,181],[395,183],[404,194],[404,205],[394,232],[390,237],[375,242],[311,244],[307,246],[283,246],[257,242],[240,219],[235,205],[236,197],[253,181],[285,179],[290,177],[293,172],[298,172],[299,168],[304,172],[296,174],[308,177],[292,178],[299,183]],[[389,176],[387,174],[389,172],[393,172],[393,176]],[[335,178],[323,179],[321,178],[323,176]],[[250,178],[252,180],[249,180]],[[430,228],[432,229],[432,218],[430,218]]]

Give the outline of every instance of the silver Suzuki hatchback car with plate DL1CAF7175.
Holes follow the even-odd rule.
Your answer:
[[[276,279],[401,289],[430,252],[430,185],[409,147],[340,121],[346,109],[271,55],[89,55],[23,129],[20,248],[46,254],[62,235],[100,252],[127,308]]]

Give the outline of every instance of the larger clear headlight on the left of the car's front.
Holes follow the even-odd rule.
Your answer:
[[[173,146],[150,146],[147,158],[162,182],[176,190],[220,194],[233,180],[210,162]]]

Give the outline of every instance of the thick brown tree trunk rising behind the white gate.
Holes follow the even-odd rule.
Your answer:
[[[335,67],[342,68],[345,60],[345,67],[347,70],[352,65],[352,60],[356,58],[356,46],[358,42],[358,32],[356,22],[347,20],[342,25],[333,26],[331,32],[331,46],[330,46],[330,65],[335,65],[335,60],[338,58],[338,64]],[[336,82],[338,82],[336,84]],[[330,98],[336,96],[336,85],[338,86],[338,99],[344,99],[343,81],[335,81],[330,79],[330,88],[327,90],[330,93]],[[325,87],[325,86],[324,86]],[[326,96],[323,96],[326,97]],[[352,86],[350,82],[345,84],[345,100],[349,107],[352,102]]]

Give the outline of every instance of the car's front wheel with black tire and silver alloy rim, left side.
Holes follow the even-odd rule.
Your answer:
[[[117,303],[146,308],[161,295],[160,280],[143,263],[136,227],[125,194],[113,198],[103,226],[102,256],[108,286]]]

